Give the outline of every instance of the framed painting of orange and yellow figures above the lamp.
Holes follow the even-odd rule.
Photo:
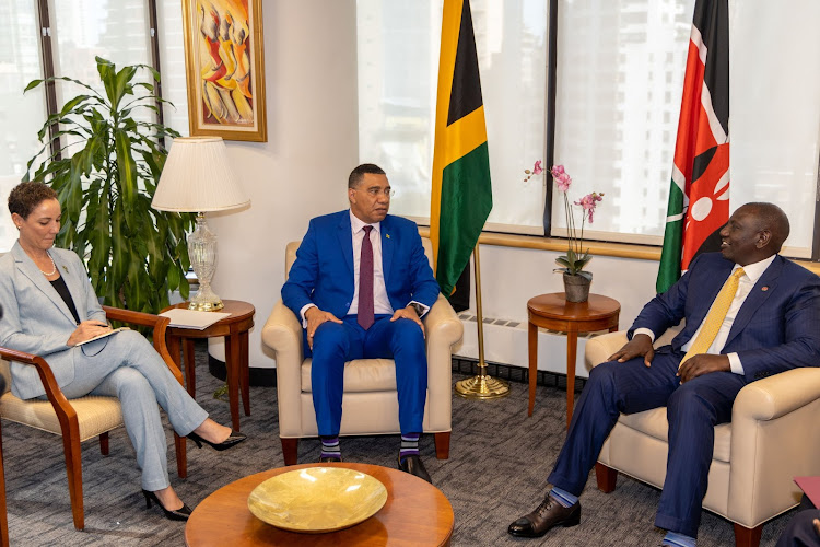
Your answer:
[[[183,0],[191,136],[267,142],[262,0]]]

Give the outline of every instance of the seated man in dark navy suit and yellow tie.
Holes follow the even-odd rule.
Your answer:
[[[578,524],[578,496],[619,415],[666,406],[669,455],[655,525],[668,531],[663,545],[694,546],[714,427],[731,420],[738,392],[771,374],[820,365],[820,278],[777,255],[788,231],[778,207],[740,207],[721,231],[721,253],[696,257],[644,306],[630,341],[590,372],[548,478],[552,490],[509,534],[539,537]],[[654,350],[653,341],[681,319],[686,327],[672,344]]]

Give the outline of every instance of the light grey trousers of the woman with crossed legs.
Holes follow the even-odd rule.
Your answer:
[[[142,488],[167,488],[165,431],[159,405],[181,437],[198,428],[208,412],[177,382],[165,361],[139,333],[125,330],[72,348],[74,380],[62,386],[69,399],[85,395],[117,397],[122,405],[126,431],[142,469]]]

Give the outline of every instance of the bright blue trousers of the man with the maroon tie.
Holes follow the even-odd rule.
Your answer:
[[[401,432],[422,432],[427,391],[427,356],[423,333],[410,319],[391,322],[390,315],[384,314],[376,315],[375,319],[365,330],[356,323],[355,315],[348,315],[341,324],[326,322],[314,333],[311,384],[319,435],[339,434],[344,363],[353,359],[395,361]]]

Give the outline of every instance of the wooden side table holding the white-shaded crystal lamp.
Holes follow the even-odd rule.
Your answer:
[[[227,375],[227,400],[231,408],[231,424],[239,431],[239,394],[242,387],[242,403],[245,416],[250,416],[250,388],[249,388],[249,364],[248,364],[248,330],[254,326],[254,314],[256,309],[248,302],[241,300],[223,300],[225,307],[222,313],[231,315],[224,317],[210,327],[198,330],[196,328],[168,327],[167,344],[168,351],[174,361],[179,365],[179,349],[183,348],[185,357],[185,383],[188,394],[196,398],[196,374],[194,371],[194,339],[225,337],[225,369]],[[163,312],[174,307],[188,307],[188,302],[166,307]],[[181,366],[180,366],[181,369]]]

